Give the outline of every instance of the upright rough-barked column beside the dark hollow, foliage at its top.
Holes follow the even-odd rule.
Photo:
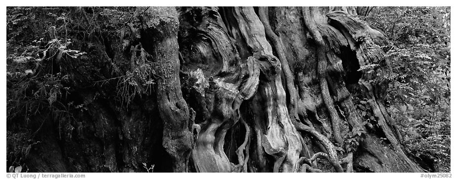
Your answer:
[[[178,13],[174,7],[141,7],[146,25],[140,41],[151,40],[142,48],[157,64],[157,107],[163,121],[163,147],[170,154],[173,172],[187,172],[193,138],[189,129],[189,107],[181,93],[178,59]],[[153,44],[148,46],[146,44]]]

